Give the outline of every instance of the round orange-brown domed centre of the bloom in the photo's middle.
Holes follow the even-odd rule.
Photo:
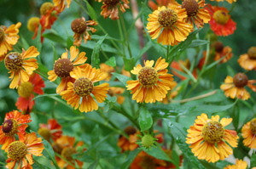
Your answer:
[[[138,73],[138,80],[144,87],[152,87],[158,81],[157,71],[153,67],[143,67]]]

